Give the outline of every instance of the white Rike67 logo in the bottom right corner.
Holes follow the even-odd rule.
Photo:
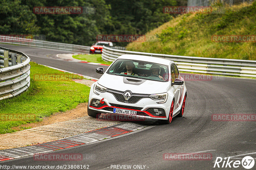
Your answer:
[[[223,161],[223,162],[222,162]],[[222,159],[221,157],[217,157],[214,163],[214,168],[237,168],[241,165],[245,169],[251,169],[254,166],[254,159],[251,156],[245,156],[242,161],[240,160],[230,160],[230,157]]]

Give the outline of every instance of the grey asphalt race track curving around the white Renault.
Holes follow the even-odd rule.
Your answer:
[[[95,68],[99,66],[54,58],[58,53],[67,52],[6,44],[0,46],[26,53],[39,64],[100,77],[95,73]],[[173,118],[170,125],[152,124],[127,135],[55,151],[82,153],[84,159],[81,161],[36,161],[33,156],[28,156],[0,165],[89,165],[90,169],[114,169],[111,165],[145,165],[145,169],[150,170],[221,169],[213,168],[216,157],[224,159],[230,156],[230,160],[242,161],[244,156],[251,156],[255,159],[255,117],[254,121],[212,121],[212,114],[255,114],[256,80],[213,76],[209,81],[185,82],[188,96],[184,116]],[[213,158],[164,160],[164,153],[210,153]]]

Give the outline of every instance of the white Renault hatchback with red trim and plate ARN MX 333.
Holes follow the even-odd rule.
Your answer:
[[[170,124],[172,117],[182,117],[187,88],[176,64],[171,60],[124,54],[92,84],[88,115],[101,113],[159,119]]]

